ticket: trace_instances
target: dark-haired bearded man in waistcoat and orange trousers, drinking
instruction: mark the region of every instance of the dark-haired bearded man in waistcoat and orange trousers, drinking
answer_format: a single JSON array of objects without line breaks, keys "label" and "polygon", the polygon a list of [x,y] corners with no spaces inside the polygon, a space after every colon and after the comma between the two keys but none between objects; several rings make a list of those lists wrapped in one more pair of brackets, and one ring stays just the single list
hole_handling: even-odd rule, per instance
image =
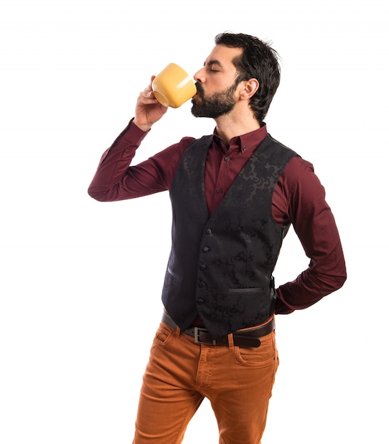
[{"label": "dark-haired bearded man in waistcoat and orange trousers, drinking", "polygon": [[[181,443],[204,396],[220,443],[261,443],[278,367],[274,315],[305,309],[346,280],[312,165],[267,133],[277,53],[245,34],[217,35],[215,43],[195,74],[192,99],[194,116],[214,118],[214,134],[182,138],[128,167],[167,111],[149,84],[89,187],[99,201],[165,190],[172,201],[165,310],[143,378],[135,444]],[[276,289],[272,272],[290,224],[310,263]]]}]

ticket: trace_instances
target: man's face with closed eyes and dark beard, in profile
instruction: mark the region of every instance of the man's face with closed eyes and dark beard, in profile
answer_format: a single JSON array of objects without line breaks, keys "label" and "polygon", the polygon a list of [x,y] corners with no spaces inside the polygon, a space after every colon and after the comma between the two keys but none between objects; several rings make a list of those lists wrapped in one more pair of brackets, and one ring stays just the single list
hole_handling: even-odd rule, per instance
[{"label": "man's face with closed eyes and dark beard, in profile", "polygon": [[197,94],[192,99],[192,114],[217,118],[234,109],[236,104],[236,67],[232,60],[241,48],[216,45],[204,67],[195,74]]}]

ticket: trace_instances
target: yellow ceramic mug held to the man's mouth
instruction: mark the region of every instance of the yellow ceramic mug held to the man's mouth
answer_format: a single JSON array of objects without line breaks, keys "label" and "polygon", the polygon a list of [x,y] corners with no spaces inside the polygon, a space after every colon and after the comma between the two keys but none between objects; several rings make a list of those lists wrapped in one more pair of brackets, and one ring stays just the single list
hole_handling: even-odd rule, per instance
[{"label": "yellow ceramic mug held to the man's mouth", "polygon": [[196,94],[192,77],[175,63],[170,63],[153,80],[153,92],[163,106],[178,108]]}]

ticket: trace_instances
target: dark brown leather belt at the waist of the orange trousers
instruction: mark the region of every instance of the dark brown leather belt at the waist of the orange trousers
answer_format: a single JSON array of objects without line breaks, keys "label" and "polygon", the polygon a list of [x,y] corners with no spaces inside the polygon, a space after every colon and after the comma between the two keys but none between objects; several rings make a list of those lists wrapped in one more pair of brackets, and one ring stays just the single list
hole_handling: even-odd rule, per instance
[{"label": "dark brown leather belt at the waist of the orange trousers", "polygon": [[[170,318],[168,313],[163,312],[162,321],[172,328],[177,328],[177,324],[175,321]],[[265,323],[263,326],[253,327],[249,330],[237,331],[236,333],[232,333],[232,337],[234,338],[234,345],[243,348],[258,348],[261,345],[261,340],[263,336],[266,336],[275,328],[274,318]],[[190,327],[185,331],[182,331],[185,335],[192,336],[195,338],[195,343],[197,344],[205,344],[205,345],[229,345],[229,337],[222,336],[221,338],[213,339],[209,334],[206,328],[200,327]]]}]

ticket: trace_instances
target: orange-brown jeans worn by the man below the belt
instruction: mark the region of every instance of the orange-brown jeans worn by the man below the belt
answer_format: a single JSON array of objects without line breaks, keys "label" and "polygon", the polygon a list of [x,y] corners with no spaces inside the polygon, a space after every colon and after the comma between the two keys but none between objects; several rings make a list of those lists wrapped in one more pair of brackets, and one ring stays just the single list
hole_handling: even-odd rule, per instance
[{"label": "orange-brown jeans worn by the man below the belt", "polygon": [[[278,353],[275,332],[259,348],[203,345],[161,322],[136,418],[133,444],[179,444],[204,397],[219,426],[219,444],[260,444]],[[207,443],[211,444],[211,443]]]}]

